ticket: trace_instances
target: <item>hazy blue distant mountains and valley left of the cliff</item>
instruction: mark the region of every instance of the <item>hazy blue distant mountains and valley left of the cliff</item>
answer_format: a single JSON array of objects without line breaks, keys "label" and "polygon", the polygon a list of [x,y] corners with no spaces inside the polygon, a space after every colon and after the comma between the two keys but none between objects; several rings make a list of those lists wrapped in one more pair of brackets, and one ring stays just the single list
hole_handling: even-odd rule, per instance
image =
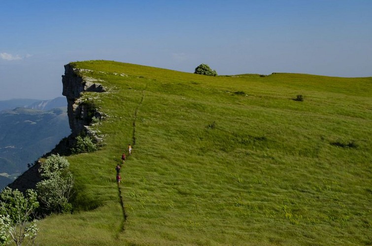
[{"label": "hazy blue distant mountains and valley left of the cliff", "polygon": [[0,101],[0,189],[69,135],[67,100]]}]

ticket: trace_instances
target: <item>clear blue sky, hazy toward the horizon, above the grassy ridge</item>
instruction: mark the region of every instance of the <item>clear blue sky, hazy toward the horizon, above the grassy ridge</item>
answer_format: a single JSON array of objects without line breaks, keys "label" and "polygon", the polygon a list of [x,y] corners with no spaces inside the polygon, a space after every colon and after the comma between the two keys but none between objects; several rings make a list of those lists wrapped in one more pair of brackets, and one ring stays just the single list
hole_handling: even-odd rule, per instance
[{"label": "clear blue sky, hazy toward the horizon, above the grassy ridge", "polygon": [[372,76],[372,0],[0,0],[0,100],[62,96],[64,64]]}]

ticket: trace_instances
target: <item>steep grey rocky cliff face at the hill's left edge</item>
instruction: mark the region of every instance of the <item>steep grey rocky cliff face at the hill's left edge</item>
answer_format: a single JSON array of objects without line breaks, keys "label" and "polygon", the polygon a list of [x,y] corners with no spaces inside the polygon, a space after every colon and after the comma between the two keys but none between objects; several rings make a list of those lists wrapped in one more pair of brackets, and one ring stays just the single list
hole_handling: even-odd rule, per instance
[{"label": "steep grey rocky cliff face at the hill's left edge", "polygon": [[83,71],[89,70],[77,69],[70,64],[65,65],[65,75],[62,75],[62,94],[67,98],[68,121],[72,136],[84,132],[98,139],[97,134],[92,132],[88,125],[93,117],[101,120],[104,115],[94,107],[93,101],[82,100],[80,97],[82,92],[105,92],[105,89],[97,83],[98,80],[79,75]]}]

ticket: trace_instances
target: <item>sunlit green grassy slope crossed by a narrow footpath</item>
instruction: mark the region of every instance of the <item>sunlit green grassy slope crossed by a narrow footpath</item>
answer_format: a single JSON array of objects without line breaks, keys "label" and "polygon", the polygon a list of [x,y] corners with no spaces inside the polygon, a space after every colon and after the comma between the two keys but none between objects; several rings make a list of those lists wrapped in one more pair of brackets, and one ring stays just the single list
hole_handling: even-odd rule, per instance
[{"label": "sunlit green grassy slope crossed by a narrow footpath", "polygon": [[372,243],[372,78],[75,66],[107,72],[84,73],[110,88],[84,95],[110,116],[105,145],[68,157],[79,211],[40,221],[41,245]]}]

